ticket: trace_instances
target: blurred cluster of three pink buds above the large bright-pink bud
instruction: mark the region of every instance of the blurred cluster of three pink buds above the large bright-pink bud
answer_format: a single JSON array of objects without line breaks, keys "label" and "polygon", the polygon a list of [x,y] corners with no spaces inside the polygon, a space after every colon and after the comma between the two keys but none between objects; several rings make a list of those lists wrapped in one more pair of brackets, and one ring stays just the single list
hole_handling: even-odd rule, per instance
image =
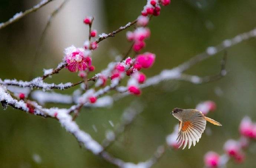
[{"label": "blurred cluster of three pink buds above the large bright-pink bud", "polygon": [[144,40],[150,37],[150,30],[146,27],[138,27],[134,32],[127,31],[126,37],[128,41],[134,41],[132,48],[138,52],[146,46]]}]

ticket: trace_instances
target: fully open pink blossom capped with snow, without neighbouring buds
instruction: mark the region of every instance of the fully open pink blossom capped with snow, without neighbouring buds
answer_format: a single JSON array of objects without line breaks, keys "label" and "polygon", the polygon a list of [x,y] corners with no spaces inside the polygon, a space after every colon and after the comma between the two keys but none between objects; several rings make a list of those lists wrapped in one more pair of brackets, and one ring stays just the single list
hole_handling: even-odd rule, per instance
[{"label": "fully open pink blossom capped with snow, without neighbouring buds", "polygon": [[69,71],[84,71],[88,66],[85,61],[83,52],[83,48],[75,48],[74,46],[65,49],[65,61],[68,64],[66,65],[66,68],[68,68]]}]

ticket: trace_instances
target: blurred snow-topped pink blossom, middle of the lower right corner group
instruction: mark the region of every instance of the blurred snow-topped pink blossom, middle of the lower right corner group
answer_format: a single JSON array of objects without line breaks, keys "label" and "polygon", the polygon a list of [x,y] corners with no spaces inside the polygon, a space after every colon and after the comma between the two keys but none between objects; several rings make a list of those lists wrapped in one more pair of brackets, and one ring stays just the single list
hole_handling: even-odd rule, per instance
[{"label": "blurred snow-topped pink blossom, middle of the lower right corner group", "polygon": [[227,140],[224,144],[224,151],[230,156],[234,157],[240,152],[240,145],[235,140]]}]

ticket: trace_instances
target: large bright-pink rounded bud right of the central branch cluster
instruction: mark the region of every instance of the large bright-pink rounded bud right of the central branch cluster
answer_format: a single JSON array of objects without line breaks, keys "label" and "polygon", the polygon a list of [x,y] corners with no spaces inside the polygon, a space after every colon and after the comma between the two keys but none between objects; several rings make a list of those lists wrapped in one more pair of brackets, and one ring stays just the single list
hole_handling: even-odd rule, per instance
[{"label": "large bright-pink rounded bud right of the central branch cluster", "polygon": [[155,62],[155,54],[144,53],[140,54],[136,58],[136,62],[142,66],[142,68],[150,68]]}]

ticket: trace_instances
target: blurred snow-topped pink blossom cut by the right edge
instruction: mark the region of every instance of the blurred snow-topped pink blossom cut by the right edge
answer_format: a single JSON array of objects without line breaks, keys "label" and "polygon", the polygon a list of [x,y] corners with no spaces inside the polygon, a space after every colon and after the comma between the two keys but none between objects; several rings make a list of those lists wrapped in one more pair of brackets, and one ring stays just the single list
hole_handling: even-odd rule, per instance
[{"label": "blurred snow-topped pink blossom cut by the right edge", "polygon": [[241,135],[249,138],[256,138],[256,125],[252,123],[249,117],[244,117],[240,123],[239,131]]}]

